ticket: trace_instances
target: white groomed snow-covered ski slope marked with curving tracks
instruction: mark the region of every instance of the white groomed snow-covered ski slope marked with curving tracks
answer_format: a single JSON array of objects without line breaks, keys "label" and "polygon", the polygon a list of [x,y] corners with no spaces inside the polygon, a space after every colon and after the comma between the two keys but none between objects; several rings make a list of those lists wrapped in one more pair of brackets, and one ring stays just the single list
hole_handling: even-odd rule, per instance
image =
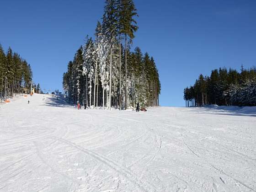
[{"label": "white groomed snow-covered ski slope marked with curving tracks", "polygon": [[255,192],[256,116],[21,97],[0,109],[0,191]]}]

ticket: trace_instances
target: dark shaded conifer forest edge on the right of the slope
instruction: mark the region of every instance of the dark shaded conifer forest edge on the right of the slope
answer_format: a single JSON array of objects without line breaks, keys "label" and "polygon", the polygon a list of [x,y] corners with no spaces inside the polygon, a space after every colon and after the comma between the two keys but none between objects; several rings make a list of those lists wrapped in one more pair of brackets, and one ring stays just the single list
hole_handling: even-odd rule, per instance
[{"label": "dark shaded conifer forest edge on the right of the slope", "polygon": [[256,67],[219,68],[210,77],[199,75],[193,86],[184,89],[186,106],[256,106]]}]

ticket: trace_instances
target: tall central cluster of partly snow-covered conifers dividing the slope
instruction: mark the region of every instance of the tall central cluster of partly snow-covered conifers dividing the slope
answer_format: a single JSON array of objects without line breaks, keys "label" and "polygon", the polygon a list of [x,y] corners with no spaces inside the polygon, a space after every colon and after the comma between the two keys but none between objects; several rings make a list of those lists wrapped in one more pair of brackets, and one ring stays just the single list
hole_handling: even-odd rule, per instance
[{"label": "tall central cluster of partly snow-covered conifers dividing the slope", "polygon": [[153,57],[130,45],[138,26],[133,0],[106,0],[95,39],[87,37],[63,75],[69,102],[127,109],[158,106],[160,80]]}]

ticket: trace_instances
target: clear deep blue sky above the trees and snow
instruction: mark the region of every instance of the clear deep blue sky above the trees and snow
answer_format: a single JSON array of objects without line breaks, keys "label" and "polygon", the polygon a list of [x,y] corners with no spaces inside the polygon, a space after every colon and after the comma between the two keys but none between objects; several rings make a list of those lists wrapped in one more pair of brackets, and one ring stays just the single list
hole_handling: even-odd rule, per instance
[{"label": "clear deep blue sky above the trees and snow", "polygon": [[[134,0],[139,46],[155,58],[160,105],[184,106],[183,89],[212,69],[256,65],[255,0]],[[85,36],[92,36],[104,0],[4,0],[0,43],[27,59],[42,88],[62,90],[62,75]]]}]

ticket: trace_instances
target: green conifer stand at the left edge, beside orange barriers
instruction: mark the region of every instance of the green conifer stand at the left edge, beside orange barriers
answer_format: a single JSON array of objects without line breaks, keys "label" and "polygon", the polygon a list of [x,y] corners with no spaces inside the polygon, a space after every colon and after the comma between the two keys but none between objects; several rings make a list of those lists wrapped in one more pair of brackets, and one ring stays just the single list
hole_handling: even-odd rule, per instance
[{"label": "green conifer stand at the left edge, beside orange barriers", "polygon": [[17,93],[30,93],[32,69],[26,59],[8,48],[4,52],[0,44],[0,100],[12,98]]}]

